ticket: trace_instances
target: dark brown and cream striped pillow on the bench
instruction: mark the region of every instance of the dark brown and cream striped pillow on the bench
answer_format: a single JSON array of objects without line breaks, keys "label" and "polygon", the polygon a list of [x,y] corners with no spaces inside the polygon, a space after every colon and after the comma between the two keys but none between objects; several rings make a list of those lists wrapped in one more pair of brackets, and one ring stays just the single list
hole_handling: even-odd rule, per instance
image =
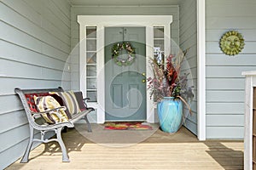
[{"label": "dark brown and cream striped pillow on the bench", "polygon": [[64,105],[71,115],[81,112],[79,109],[79,104],[73,91],[67,92],[49,92],[49,94],[57,94],[64,101]]}]

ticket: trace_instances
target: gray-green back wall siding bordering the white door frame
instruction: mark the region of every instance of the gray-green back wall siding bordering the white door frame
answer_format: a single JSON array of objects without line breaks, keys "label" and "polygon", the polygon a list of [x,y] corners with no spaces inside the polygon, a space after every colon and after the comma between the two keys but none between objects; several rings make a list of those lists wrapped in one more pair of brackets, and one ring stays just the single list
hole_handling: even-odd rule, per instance
[{"label": "gray-green back wall siding bordering the white door frame", "polygon": [[[78,15],[167,15],[173,16],[172,22],[172,39],[179,42],[178,37],[178,6],[165,5],[165,6],[73,6],[71,18],[72,30],[72,88],[79,90],[79,24],[77,22]],[[103,56],[102,56],[103,57]],[[103,59],[103,58],[102,58]],[[90,114],[96,117],[96,112]],[[90,122],[96,122],[96,119],[90,119]]]}]

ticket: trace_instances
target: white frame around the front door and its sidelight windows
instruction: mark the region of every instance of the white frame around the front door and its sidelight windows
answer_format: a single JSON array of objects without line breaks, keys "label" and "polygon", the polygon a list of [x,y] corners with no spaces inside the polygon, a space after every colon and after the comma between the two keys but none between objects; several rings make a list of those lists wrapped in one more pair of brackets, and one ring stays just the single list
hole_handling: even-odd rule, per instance
[{"label": "white frame around the front door and its sidelight windows", "polygon": [[[96,26],[96,72],[97,72],[97,103],[90,104],[96,108],[97,123],[105,122],[105,71],[104,71],[104,28],[107,26],[145,26],[146,28],[146,58],[152,58],[154,54],[153,27],[164,26],[165,35],[171,36],[172,15],[79,15],[78,22],[80,25],[79,40],[79,78],[80,90],[86,94],[86,26]],[[171,41],[165,39],[165,54],[169,54]],[[146,67],[147,77],[150,77],[150,70]],[[150,99],[147,90],[147,122],[154,122],[154,102]]]}]

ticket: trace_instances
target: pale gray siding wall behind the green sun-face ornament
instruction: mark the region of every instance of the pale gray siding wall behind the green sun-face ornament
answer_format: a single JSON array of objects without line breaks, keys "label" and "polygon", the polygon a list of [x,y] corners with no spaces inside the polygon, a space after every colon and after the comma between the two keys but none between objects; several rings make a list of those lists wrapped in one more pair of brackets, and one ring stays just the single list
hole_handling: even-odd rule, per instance
[{"label": "pale gray siding wall behind the green sun-face ornament", "polygon": [[[207,0],[207,139],[242,139],[244,77],[256,70],[256,2]],[[222,53],[218,41],[226,31],[241,32],[241,54]]]}]

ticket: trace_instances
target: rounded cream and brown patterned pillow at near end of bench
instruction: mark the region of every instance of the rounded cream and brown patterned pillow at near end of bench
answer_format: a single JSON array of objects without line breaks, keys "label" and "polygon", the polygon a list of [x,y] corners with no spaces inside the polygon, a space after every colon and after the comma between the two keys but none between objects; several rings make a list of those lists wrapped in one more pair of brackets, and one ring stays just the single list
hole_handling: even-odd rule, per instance
[{"label": "rounded cream and brown patterned pillow at near end of bench", "polygon": [[[35,104],[38,107],[38,111],[49,111],[55,108],[61,107],[61,105],[52,97],[52,96],[42,96],[37,97],[34,96]],[[68,118],[66,112],[63,110],[53,111],[55,114],[44,113],[42,116],[44,120],[49,123],[56,123],[56,122],[67,122]],[[56,114],[60,114],[61,119]]]}]

